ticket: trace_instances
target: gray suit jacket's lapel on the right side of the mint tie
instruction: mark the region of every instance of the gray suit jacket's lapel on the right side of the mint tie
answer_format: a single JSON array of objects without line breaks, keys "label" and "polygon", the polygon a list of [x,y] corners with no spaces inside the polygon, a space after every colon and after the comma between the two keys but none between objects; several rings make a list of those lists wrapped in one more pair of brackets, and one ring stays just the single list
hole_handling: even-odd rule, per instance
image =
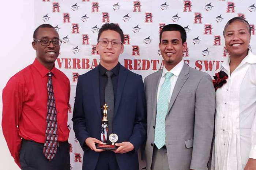
[{"label": "gray suit jacket's lapel on the right side of the mint tie", "polygon": [[169,113],[170,109],[172,108],[173,103],[174,103],[177,95],[179,94],[182,86],[187,81],[187,79],[189,77],[188,73],[189,73],[189,66],[187,64],[184,64],[184,66],[182,67],[182,70],[180,72],[180,75],[178,76],[175,87],[173,89],[173,93],[172,93],[172,97],[171,97],[171,100],[170,100],[170,103],[168,106],[167,114]]}]

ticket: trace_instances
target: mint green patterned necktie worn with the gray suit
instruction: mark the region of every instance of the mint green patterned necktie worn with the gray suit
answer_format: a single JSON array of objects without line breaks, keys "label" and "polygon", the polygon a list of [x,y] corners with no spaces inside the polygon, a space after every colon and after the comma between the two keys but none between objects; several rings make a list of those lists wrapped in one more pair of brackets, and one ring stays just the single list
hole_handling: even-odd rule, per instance
[{"label": "mint green patterned necktie worn with the gray suit", "polygon": [[155,122],[155,145],[161,149],[165,145],[165,116],[169,105],[169,96],[171,89],[170,78],[173,76],[171,72],[165,74],[165,82],[163,83],[157,102],[157,118]]}]

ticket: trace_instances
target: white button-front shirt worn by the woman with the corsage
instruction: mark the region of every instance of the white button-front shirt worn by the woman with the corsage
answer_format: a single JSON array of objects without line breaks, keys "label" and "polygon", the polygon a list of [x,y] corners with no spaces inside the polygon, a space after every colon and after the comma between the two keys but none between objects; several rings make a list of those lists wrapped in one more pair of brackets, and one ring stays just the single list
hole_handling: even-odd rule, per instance
[{"label": "white button-front shirt worn by the woman with the corsage", "polygon": [[229,77],[216,91],[212,170],[243,170],[256,159],[256,55],[249,51],[231,76],[229,62],[218,70]]}]

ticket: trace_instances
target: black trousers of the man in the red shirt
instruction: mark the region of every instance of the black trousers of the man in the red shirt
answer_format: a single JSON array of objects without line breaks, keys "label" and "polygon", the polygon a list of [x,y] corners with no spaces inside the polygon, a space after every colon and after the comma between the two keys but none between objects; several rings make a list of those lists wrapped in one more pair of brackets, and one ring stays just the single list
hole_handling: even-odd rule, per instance
[{"label": "black trousers of the man in the red shirt", "polygon": [[69,143],[61,142],[57,154],[48,161],[44,153],[44,143],[22,140],[19,161],[22,170],[70,170]]}]

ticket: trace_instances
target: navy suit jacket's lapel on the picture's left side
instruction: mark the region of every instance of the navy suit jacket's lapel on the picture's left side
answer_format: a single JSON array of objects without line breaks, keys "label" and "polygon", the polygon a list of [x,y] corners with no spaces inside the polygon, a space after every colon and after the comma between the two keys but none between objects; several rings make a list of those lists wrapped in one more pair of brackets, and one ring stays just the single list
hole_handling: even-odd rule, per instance
[{"label": "navy suit jacket's lapel on the picture's left side", "polygon": [[99,99],[99,67],[95,67],[91,74],[91,86],[93,87],[94,102],[101,118],[101,104]]}]

